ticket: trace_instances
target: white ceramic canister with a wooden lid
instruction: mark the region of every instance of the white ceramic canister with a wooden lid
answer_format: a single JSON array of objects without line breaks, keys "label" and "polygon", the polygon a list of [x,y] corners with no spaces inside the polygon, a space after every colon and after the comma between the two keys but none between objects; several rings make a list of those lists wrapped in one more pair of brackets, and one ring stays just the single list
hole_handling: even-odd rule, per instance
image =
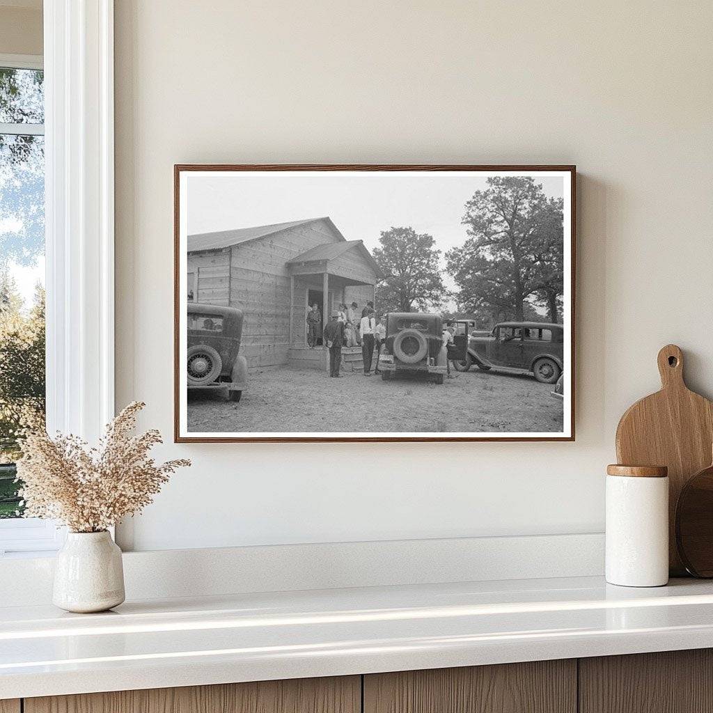
[{"label": "white ceramic canister with a wooden lid", "polygon": [[665,466],[607,466],[606,579],[660,587],[669,573],[669,480]]}]

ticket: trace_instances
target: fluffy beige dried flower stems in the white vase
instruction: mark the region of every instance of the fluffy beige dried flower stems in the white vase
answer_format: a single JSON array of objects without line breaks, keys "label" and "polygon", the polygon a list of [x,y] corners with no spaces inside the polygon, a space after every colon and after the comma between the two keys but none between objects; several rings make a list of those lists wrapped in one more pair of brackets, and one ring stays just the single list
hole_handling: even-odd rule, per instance
[{"label": "fluffy beige dried flower stems in the white vase", "polygon": [[106,427],[97,448],[76,436],[45,431],[24,436],[17,478],[25,517],[61,520],[72,532],[96,533],[153,502],[168,476],[190,461],[156,465],[148,452],[161,443],[152,429],[132,436],[145,404],[134,401]]}]

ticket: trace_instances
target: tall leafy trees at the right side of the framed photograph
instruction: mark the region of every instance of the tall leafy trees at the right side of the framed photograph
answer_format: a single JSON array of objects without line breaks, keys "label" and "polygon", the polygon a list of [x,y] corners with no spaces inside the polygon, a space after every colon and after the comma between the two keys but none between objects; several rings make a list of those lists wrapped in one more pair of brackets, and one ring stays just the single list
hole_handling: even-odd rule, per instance
[{"label": "tall leafy trees at the right side of the framed photograph", "polygon": [[[468,239],[446,253],[463,311],[525,319],[528,299],[558,321],[563,293],[563,202],[548,199],[530,177],[488,178],[466,202]],[[530,307],[530,310],[528,310]]]}]

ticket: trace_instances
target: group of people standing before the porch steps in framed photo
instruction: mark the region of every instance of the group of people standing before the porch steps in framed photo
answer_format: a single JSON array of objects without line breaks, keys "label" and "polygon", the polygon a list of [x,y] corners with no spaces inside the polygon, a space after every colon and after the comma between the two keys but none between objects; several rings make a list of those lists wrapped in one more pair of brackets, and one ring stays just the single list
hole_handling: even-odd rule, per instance
[{"label": "group of people standing before the porch steps in framed photo", "polygon": [[361,310],[361,319],[356,323],[356,302],[347,307],[339,304],[334,309],[332,318],[324,327],[324,344],[329,349],[329,376],[339,377],[342,366],[342,347],[356,347],[361,344],[361,358],[364,361],[364,375],[371,376],[371,363],[376,350],[376,369],[379,374],[379,354],[381,345],[386,339],[386,324],[384,317],[376,319],[374,302],[366,302]]}]

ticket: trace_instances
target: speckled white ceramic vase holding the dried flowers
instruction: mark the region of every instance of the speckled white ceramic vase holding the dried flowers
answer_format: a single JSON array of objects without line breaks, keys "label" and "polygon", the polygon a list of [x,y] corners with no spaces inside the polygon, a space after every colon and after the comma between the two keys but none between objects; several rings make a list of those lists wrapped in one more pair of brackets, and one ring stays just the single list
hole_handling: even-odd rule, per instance
[{"label": "speckled white ceramic vase holding the dried flowers", "polygon": [[68,612],[103,612],[124,598],[121,550],[111,535],[67,533],[56,558],[54,605]]}]

